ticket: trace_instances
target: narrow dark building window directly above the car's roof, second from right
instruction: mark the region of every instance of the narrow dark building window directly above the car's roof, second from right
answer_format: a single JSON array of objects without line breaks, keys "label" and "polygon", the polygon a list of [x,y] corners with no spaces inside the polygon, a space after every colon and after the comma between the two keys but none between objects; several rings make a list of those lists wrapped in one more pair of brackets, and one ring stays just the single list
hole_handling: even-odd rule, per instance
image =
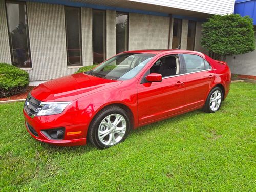
[{"label": "narrow dark building window directly above the car's roof, second from right", "polygon": [[182,19],[174,19],[172,48],[177,49],[181,43]]}]

